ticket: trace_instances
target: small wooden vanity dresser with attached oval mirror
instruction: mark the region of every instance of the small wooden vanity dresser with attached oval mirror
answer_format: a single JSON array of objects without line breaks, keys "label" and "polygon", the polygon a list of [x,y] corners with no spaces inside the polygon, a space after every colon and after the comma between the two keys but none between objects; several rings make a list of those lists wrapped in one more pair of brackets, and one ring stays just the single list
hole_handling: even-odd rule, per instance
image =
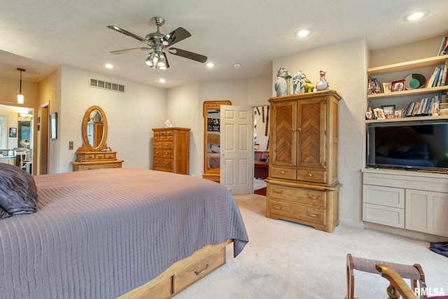
[{"label": "small wooden vanity dresser with attached oval mirror", "polygon": [[117,152],[106,144],[107,118],[99,106],[85,111],[82,125],[83,146],[76,151],[76,160],[71,162],[73,172],[101,168],[121,168],[123,160],[117,160]]}]

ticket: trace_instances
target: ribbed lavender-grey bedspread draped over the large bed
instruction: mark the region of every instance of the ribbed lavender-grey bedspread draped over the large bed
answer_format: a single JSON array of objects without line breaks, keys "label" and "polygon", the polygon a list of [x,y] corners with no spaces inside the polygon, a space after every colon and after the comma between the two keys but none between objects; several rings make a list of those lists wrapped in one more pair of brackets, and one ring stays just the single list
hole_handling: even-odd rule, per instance
[{"label": "ribbed lavender-grey bedspread draped over the large bed", "polygon": [[232,194],[146,169],[35,176],[38,211],[0,221],[0,298],[116,298],[207,244],[248,241]]}]

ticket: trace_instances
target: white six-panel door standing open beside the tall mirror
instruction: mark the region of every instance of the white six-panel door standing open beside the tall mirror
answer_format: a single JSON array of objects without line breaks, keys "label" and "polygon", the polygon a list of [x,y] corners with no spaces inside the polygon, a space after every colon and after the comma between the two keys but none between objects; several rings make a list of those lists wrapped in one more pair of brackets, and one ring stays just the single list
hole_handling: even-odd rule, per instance
[{"label": "white six-panel door standing open beside the tall mirror", "polygon": [[252,193],[252,109],[221,106],[221,184],[232,194]]}]

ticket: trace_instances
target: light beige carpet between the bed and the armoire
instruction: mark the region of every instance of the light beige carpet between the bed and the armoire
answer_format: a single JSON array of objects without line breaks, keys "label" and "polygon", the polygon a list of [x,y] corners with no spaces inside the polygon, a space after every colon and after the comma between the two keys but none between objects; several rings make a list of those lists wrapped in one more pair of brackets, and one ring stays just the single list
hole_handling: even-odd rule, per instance
[{"label": "light beige carpet between the bed and the armoire", "polygon": [[[412,265],[420,263],[431,288],[448,295],[448,258],[429,243],[375,230],[339,225],[332,233],[265,217],[265,196],[236,195],[249,242],[227,263],[176,299],[344,298],[346,253]],[[355,272],[355,295],[387,298],[388,282],[379,274]]]}]

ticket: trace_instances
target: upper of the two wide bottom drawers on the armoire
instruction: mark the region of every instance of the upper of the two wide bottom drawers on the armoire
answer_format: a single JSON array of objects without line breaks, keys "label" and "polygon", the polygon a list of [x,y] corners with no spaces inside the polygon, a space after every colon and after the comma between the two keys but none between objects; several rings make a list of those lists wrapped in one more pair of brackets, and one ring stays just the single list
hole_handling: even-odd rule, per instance
[{"label": "upper of the two wide bottom drawers on the armoire", "polygon": [[325,207],[326,193],[318,190],[292,188],[281,185],[267,184],[267,197],[286,202],[300,204],[312,204],[317,207]]}]

